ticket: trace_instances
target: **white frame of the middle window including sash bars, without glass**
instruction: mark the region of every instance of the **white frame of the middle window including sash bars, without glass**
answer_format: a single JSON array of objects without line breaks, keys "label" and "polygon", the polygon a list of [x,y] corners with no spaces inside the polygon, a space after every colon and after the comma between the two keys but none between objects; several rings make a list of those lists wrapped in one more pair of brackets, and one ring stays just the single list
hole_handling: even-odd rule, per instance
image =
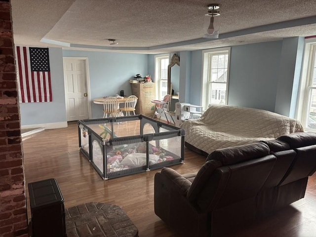
[{"label": "white frame of the middle window including sash bars, without glass", "polygon": [[[212,55],[222,55],[222,54],[228,54],[228,63],[227,63],[227,80],[226,82],[211,82],[210,81],[210,74],[211,74],[211,56]],[[202,80],[201,80],[201,104],[203,106],[203,110],[206,110],[208,108],[208,101],[209,96],[212,96],[212,91],[210,90],[209,84],[211,83],[226,83],[226,92],[224,93],[226,95],[225,98],[225,105],[228,103],[228,88],[229,88],[229,71],[230,71],[230,60],[231,60],[231,47],[224,47],[224,48],[215,48],[215,49],[207,49],[202,50]],[[218,92],[217,92],[218,93]],[[222,97],[222,91],[220,97]],[[214,94],[216,97],[216,94]]]}]

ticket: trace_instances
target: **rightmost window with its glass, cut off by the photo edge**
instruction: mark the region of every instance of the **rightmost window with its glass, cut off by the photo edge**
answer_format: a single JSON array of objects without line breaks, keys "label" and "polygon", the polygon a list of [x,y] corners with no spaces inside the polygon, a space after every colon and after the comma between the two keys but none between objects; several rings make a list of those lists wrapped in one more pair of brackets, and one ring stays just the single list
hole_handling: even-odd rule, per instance
[{"label": "rightmost window with its glass, cut off by the photo edge", "polygon": [[305,40],[297,115],[307,130],[316,130],[316,38]]}]

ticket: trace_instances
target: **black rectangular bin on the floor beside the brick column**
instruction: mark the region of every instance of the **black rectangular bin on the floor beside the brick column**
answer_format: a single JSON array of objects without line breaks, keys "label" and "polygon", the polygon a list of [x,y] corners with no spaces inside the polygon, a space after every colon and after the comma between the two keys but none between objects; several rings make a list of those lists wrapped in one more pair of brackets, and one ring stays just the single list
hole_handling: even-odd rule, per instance
[{"label": "black rectangular bin on the floor beside the brick column", "polygon": [[64,198],[56,179],[29,183],[32,237],[66,237]]}]

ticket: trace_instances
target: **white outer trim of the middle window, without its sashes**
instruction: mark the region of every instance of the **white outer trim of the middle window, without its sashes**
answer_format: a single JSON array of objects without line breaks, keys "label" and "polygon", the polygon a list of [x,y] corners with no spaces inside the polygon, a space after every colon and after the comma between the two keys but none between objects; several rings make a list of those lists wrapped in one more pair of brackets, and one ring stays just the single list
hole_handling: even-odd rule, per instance
[{"label": "white outer trim of the middle window, without its sashes", "polygon": [[229,85],[229,71],[230,71],[230,61],[231,61],[231,47],[224,47],[224,48],[213,48],[213,49],[206,49],[202,50],[202,79],[201,79],[201,104],[203,106],[203,110],[208,108],[208,104],[206,103],[206,97],[208,95],[208,60],[209,60],[209,53],[221,53],[228,51],[228,69],[227,69],[227,81],[226,81],[226,100],[225,104],[228,103],[228,85]]}]

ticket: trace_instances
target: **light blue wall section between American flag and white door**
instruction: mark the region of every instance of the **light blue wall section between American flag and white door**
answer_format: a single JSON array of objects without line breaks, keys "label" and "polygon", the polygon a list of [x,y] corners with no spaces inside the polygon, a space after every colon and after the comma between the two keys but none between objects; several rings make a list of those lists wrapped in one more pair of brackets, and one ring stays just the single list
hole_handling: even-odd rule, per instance
[{"label": "light blue wall section between American flag and white door", "polygon": [[66,121],[63,54],[49,48],[52,102],[20,103],[21,126]]}]

